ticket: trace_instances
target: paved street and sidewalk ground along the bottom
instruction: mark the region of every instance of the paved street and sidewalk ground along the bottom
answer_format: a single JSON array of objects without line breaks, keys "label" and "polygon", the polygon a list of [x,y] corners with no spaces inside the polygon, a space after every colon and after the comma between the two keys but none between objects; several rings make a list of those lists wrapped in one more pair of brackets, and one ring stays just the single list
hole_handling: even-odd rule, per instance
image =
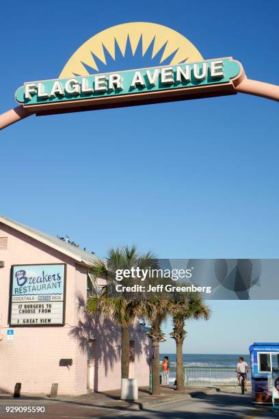
[{"label": "paved street and sidewalk ground along the bottom", "polygon": [[[6,413],[6,407],[10,412]],[[14,411],[11,411],[11,407]],[[18,407],[40,407],[40,411],[23,413]],[[44,412],[42,412],[44,409]],[[279,418],[270,407],[251,404],[251,393],[240,394],[239,388],[187,388],[177,392],[174,387],[161,387],[159,396],[151,396],[148,388],[139,389],[137,402],[120,401],[120,391],[88,393],[83,396],[49,398],[43,394],[22,394],[21,398],[0,394],[0,418]]]}]

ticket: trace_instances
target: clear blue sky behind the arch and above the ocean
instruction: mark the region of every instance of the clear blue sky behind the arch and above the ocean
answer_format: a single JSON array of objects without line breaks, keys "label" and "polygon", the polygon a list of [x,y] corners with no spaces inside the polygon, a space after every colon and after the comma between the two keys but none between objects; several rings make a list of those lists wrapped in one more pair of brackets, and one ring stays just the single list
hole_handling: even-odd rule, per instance
[{"label": "clear blue sky behind the arch and above the ocean", "polygon": [[[277,0],[14,1],[1,12],[0,112],[24,81],[58,77],[85,40],[131,21],[172,27],[204,58],[233,56],[251,79],[279,84]],[[167,258],[279,256],[276,102],[238,94],[30,117],[0,141],[0,213],[97,255],[134,243]],[[209,322],[187,325],[188,353],[278,341],[277,301],[210,304]]]}]

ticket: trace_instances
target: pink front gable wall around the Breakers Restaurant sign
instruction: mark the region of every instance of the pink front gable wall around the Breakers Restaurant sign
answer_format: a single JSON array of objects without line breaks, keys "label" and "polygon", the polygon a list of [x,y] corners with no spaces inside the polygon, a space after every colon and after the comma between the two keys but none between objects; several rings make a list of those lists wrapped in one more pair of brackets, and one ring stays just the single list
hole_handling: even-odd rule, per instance
[{"label": "pink front gable wall around the Breakers Restaurant sign", "polygon": [[[69,335],[77,323],[77,292],[86,292],[86,273],[76,270],[70,257],[0,223],[0,237],[8,237],[8,250],[0,250],[0,392],[13,392],[16,382],[22,392],[46,393],[58,383],[59,394],[86,392],[87,354]],[[13,264],[66,263],[66,313],[64,327],[12,327],[8,341],[10,268]],[[59,359],[72,358],[72,366],[59,366]],[[82,379],[84,374],[84,379]]]}]

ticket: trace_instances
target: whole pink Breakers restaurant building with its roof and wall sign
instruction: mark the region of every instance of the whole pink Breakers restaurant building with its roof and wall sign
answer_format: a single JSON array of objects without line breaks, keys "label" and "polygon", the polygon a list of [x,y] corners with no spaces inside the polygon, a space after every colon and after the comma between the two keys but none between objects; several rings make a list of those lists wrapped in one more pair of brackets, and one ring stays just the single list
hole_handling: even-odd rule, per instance
[{"label": "whole pink Breakers restaurant building with its roof and wall sign", "polygon": [[[120,329],[83,305],[95,256],[0,216],[0,393],[84,394],[120,388]],[[130,378],[148,385],[150,343],[131,329]]]}]

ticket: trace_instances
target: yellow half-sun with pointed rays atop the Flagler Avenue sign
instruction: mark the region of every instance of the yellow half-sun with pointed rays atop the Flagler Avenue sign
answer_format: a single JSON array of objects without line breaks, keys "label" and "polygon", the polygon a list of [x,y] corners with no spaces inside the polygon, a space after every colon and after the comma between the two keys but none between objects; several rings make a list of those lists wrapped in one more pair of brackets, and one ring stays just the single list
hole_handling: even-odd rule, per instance
[{"label": "yellow half-sun with pointed rays atop the Flagler Avenue sign", "polygon": [[123,23],[84,42],[59,78],[202,60],[198,49],[170,27],[148,22]]}]

